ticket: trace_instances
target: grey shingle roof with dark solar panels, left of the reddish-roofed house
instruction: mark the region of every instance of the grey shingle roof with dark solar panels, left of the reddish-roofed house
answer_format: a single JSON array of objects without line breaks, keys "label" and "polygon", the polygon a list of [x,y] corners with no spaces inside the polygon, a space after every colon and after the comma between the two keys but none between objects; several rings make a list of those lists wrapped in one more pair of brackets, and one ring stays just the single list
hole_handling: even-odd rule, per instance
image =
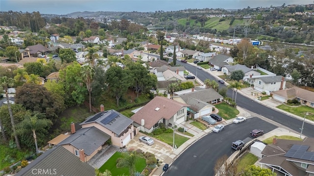
[{"label": "grey shingle roof with dark solar panels, left of the reddish-roofed house", "polygon": [[[108,123],[104,123],[103,120],[110,119],[111,116],[115,116],[112,120]],[[106,120],[105,120],[106,121]],[[109,129],[110,131],[114,132],[115,134],[120,135],[125,129],[127,129],[133,121],[130,118],[127,118],[123,114],[115,110],[108,110],[105,112],[99,112],[91,117],[89,117],[86,121],[82,122],[80,125],[89,124],[89,123],[98,123],[101,126]]]}]

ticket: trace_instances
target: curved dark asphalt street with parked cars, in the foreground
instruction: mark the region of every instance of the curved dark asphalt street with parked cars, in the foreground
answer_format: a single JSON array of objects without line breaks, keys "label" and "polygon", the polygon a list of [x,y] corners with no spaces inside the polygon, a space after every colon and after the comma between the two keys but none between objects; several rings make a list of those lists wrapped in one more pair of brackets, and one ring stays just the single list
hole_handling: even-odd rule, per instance
[{"label": "curved dark asphalt street with parked cars, in the foreground", "polygon": [[250,132],[256,128],[267,133],[277,126],[257,117],[247,119],[240,124],[227,125],[221,132],[209,133],[187,148],[163,176],[214,176],[213,168],[217,159],[225,154],[229,157],[235,152],[231,148],[232,142],[252,140]]}]

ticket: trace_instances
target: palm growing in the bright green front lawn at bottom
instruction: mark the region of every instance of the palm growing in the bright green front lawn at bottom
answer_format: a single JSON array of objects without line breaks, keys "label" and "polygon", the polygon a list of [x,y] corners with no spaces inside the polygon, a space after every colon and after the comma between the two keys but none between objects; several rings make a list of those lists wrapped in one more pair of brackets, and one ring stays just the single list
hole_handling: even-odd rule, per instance
[{"label": "palm growing in the bright green front lawn at bottom", "polygon": [[133,176],[135,173],[135,162],[138,160],[139,155],[136,151],[123,152],[122,158],[118,161],[117,167],[127,167],[130,171],[130,176]]}]

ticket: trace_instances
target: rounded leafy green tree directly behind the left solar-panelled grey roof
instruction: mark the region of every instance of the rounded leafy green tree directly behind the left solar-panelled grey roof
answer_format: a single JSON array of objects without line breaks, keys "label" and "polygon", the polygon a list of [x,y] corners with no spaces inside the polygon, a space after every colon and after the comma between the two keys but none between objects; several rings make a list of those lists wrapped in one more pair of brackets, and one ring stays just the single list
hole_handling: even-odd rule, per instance
[{"label": "rounded leafy green tree directly behind the left solar-panelled grey roof", "polygon": [[107,70],[106,82],[108,84],[109,93],[116,98],[117,106],[119,106],[121,96],[127,93],[131,85],[130,80],[131,78],[127,70],[122,70],[119,66],[112,66]]}]

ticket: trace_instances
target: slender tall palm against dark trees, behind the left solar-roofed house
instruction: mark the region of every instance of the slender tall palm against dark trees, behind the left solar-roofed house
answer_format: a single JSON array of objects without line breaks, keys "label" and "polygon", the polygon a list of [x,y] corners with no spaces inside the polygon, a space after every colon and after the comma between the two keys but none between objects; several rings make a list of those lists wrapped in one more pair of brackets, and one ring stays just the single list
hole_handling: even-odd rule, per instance
[{"label": "slender tall palm against dark trees, behind the left solar-roofed house", "polygon": [[86,84],[87,91],[89,93],[89,112],[92,113],[92,102],[91,102],[91,92],[92,92],[92,82],[95,75],[95,70],[91,66],[81,67],[81,74],[83,80]]}]

